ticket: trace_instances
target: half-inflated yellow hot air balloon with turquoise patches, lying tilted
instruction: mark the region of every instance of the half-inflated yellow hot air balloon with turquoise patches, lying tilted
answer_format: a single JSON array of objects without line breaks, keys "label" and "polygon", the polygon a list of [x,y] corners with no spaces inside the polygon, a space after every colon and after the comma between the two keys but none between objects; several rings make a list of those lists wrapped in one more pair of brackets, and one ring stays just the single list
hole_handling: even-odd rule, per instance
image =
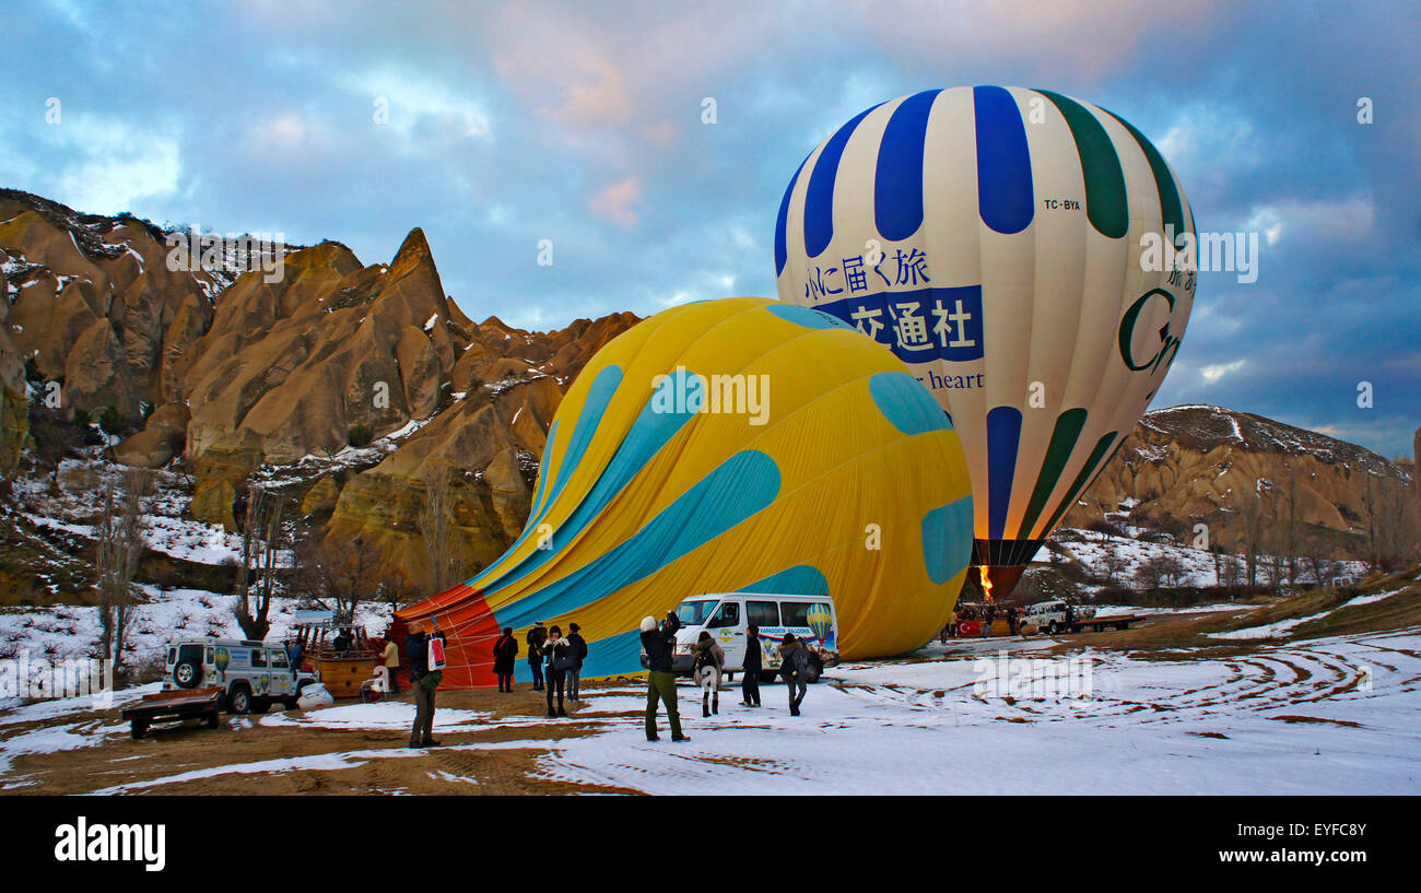
[{"label": "half-inflated yellow hot air balloon with turquoise patches, lying tilted", "polygon": [[585,677],[639,673],[641,619],[718,592],[828,594],[841,656],[899,654],[952,610],[971,520],[956,434],[898,360],[804,307],[692,303],[588,361],[523,533],[396,620],[446,633],[452,687],[493,685],[500,629],[537,620],[581,626]]}]

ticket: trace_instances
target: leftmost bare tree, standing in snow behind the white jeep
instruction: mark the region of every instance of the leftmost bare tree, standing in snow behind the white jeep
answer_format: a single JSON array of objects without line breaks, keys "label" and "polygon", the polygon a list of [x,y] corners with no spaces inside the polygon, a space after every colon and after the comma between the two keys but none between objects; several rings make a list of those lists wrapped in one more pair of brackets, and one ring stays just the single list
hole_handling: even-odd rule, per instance
[{"label": "leftmost bare tree, standing in snow behind the white jeep", "polygon": [[124,660],[124,640],[136,610],[134,573],[144,553],[142,498],[149,472],[128,468],[122,472],[124,492],[114,493],[114,479],[105,475],[104,512],[98,525],[95,570],[98,572],[99,657],[115,665]]}]

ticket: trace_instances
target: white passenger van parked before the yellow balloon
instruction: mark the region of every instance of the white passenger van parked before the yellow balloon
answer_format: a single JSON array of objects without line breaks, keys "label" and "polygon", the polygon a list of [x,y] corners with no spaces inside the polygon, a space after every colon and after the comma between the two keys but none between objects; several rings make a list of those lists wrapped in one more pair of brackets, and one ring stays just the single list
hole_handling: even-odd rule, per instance
[{"label": "white passenger van parked before the yellow balloon", "polygon": [[[725,648],[725,673],[742,673],[746,647],[760,648],[760,678],[773,681],[780,667],[780,643],[786,633],[804,643],[810,651],[809,681],[818,681],[824,667],[838,663],[838,614],[828,596],[780,596],[770,593],[716,593],[692,596],[676,609],[681,630],[676,633],[674,667],[691,675],[692,646],[705,630]],[[760,629],[759,640],[749,641],[746,629]],[[641,656],[647,665],[647,654]]]}]

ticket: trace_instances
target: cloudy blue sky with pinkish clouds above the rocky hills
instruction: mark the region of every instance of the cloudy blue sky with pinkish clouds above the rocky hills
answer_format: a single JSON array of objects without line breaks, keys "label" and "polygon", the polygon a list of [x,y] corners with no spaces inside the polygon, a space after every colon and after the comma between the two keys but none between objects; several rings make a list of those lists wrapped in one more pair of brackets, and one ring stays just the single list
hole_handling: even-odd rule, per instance
[{"label": "cloudy blue sky with pinkish clouds above the rocky hills", "polygon": [[0,185],[365,263],[419,226],[469,317],[537,330],[774,296],[780,196],[840,124],[1056,90],[1147,134],[1201,230],[1258,233],[1256,282],[1201,274],[1152,405],[1387,456],[1421,424],[1415,3],[7,7]]}]

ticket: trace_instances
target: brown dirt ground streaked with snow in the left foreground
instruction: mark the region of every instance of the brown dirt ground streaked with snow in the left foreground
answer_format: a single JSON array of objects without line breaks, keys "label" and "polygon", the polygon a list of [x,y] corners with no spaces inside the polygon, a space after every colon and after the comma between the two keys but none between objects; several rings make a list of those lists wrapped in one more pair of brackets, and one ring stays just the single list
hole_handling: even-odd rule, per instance
[{"label": "brown dirt ground streaked with snow in the left foreground", "polygon": [[[621,685],[625,685],[622,683]],[[584,691],[595,690],[584,684]],[[412,704],[406,691],[396,698]],[[347,701],[341,701],[347,704]],[[557,739],[590,734],[590,727],[577,721],[574,704],[568,704],[570,718],[546,720],[541,694],[523,691],[500,695],[497,691],[441,691],[441,710],[490,711],[495,720],[526,718],[543,725],[522,724],[513,728],[469,725],[468,731],[438,731],[443,747],[404,759],[367,759],[361,765],[340,769],[301,768],[286,772],[225,772],[190,781],[173,781],[151,788],[128,788],[132,793],[183,795],[240,795],[240,793],[637,793],[614,788],[568,785],[537,778],[534,759],[547,748],[459,749],[458,745],[487,744],[520,738]],[[273,711],[276,712],[276,711]],[[297,715],[297,714],[293,714]],[[631,715],[631,714],[628,714]],[[101,718],[104,725],[122,722],[121,710],[84,714],[85,721]],[[223,715],[216,729],[196,721],[182,725],[158,725],[149,737],[134,741],[125,734],[112,734],[102,747],[85,747],[50,754],[18,755],[6,775],[13,786],[4,793],[92,793],[118,785],[169,778],[210,766],[250,764],[260,761],[344,754],[350,751],[402,749],[409,744],[406,729],[330,729],[293,725],[256,725],[246,720]],[[250,720],[259,720],[252,717]],[[605,721],[607,714],[598,720]],[[45,727],[67,725],[74,717],[58,721],[17,724],[0,732],[24,732]],[[125,725],[126,729],[126,725]],[[82,728],[78,731],[84,731]]]}]

